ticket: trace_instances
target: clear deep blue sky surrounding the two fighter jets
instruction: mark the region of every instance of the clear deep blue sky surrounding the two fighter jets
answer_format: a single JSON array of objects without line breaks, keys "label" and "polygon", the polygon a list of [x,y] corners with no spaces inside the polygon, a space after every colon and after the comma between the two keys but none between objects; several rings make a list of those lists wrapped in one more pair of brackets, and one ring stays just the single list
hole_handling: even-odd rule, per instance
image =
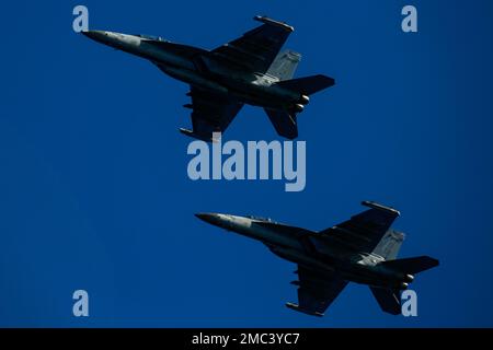
[{"label": "clear deep blue sky surrounding the two fighter jets", "polygon": [[[268,14],[296,27],[297,77],[336,85],[300,115],[307,188],[186,176],[187,86],[72,32],[78,2],[2,4],[1,326],[493,326],[491,1],[83,1],[90,27],[214,48]],[[419,33],[400,31],[404,4]],[[245,107],[230,139],[277,138]],[[321,230],[398,208],[401,256],[431,255],[419,317],[349,284],[324,318],[296,301],[295,266],[198,221],[219,211]],[[90,294],[90,317],[71,293]]]}]

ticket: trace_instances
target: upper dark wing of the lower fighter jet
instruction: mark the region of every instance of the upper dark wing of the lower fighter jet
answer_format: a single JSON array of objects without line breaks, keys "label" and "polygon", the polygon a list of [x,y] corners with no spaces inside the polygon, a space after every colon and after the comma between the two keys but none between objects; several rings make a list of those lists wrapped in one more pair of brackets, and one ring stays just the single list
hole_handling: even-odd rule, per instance
[{"label": "upper dark wing of the lower fighter jet", "polygon": [[362,205],[370,209],[343,223],[321,231],[320,234],[323,240],[344,245],[354,250],[371,253],[400,213],[395,209],[371,201],[364,201]]}]

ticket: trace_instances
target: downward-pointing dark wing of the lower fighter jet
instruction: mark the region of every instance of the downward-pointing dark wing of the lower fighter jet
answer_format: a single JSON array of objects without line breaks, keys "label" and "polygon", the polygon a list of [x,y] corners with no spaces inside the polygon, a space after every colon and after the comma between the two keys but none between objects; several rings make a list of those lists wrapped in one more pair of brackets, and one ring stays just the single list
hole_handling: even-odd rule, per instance
[{"label": "downward-pointing dark wing of the lower fighter jet", "polygon": [[309,315],[323,316],[325,310],[346,287],[347,281],[335,275],[316,272],[298,265],[298,304],[286,306]]}]

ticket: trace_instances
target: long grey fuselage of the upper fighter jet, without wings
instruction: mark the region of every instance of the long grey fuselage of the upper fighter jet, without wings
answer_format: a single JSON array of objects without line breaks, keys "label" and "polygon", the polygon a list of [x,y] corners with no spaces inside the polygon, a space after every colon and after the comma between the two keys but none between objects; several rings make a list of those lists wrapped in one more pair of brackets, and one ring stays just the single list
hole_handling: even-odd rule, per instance
[{"label": "long grey fuselage of the upper fighter jet, without wings", "polygon": [[301,112],[308,96],[277,86],[278,79],[246,72],[217,61],[209,51],[162,39],[147,39],[104,31],[84,32],[88,37],[148,59],[168,75],[196,88],[228,94],[237,100],[265,108]]}]

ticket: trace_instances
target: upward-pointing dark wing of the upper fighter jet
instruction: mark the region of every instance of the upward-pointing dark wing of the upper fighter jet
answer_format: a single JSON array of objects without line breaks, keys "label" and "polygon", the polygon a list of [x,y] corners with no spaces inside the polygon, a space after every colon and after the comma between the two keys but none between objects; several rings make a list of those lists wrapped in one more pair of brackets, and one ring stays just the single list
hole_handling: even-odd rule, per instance
[{"label": "upward-pointing dark wing of the upper fighter jet", "polygon": [[265,73],[294,28],[265,16],[255,16],[254,20],[264,24],[211,52],[216,58],[244,70]]}]

